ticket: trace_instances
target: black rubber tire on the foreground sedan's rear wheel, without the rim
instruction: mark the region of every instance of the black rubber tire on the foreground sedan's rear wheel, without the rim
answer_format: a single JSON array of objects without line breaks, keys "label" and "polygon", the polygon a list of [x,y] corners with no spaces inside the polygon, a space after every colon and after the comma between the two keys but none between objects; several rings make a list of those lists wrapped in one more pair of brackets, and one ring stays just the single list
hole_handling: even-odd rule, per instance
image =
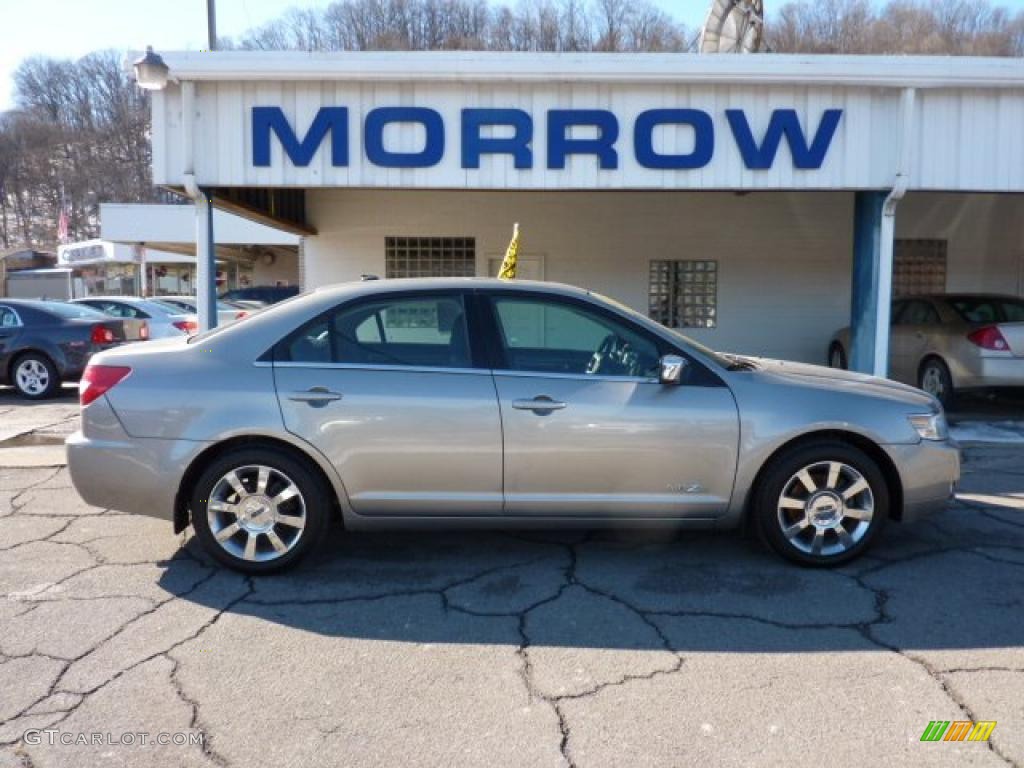
[{"label": "black rubber tire on the foreground sedan's rear wheel, without the rim", "polygon": [[[255,480],[251,477],[251,470],[254,467],[267,467],[272,470],[272,474],[267,481],[265,496],[260,496],[258,497],[259,499],[274,496],[276,489],[284,487],[281,484],[281,478],[284,478],[291,481],[297,487],[299,494],[298,503],[304,505],[305,524],[297,531],[297,539],[294,544],[291,544],[288,538],[292,531],[296,530],[294,524],[284,525],[273,523],[270,525],[270,530],[274,531],[274,536],[278,537],[279,542],[290,543],[290,548],[284,554],[271,555],[268,550],[273,548],[270,547],[272,543],[269,536],[262,532],[255,535],[257,544],[262,545],[257,556],[265,555],[272,559],[251,560],[228,551],[228,548],[238,550],[243,546],[242,541],[248,542],[252,538],[247,529],[240,528],[234,535],[228,537],[225,544],[222,545],[217,541],[214,530],[211,528],[209,509],[211,495],[215,492],[218,494],[222,493],[218,490],[218,486],[226,488],[226,486],[220,485],[220,483],[232,470],[241,470],[237,477],[242,480],[243,486],[247,492],[254,490],[255,486],[253,483]],[[275,482],[278,483],[276,486],[273,485]],[[214,460],[196,483],[190,500],[193,528],[196,530],[196,538],[200,540],[203,548],[217,561],[233,570],[251,574],[285,570],[286,568],[293,567],[312,552],[324,539],[331,520],[333,507],[330,500],[333,498],[333,495],[334,490],[328,486],[317,472],[309,467],[306,461],[301,461],[288,453],[268,447],[240,449]],[[237,496],[230,498],[239,498],[241,501],[241,498]],[[289,512],[294,512],[296,503],[295,498],[292,498],[280,505],[280,508],[284,508],[287,504],[291,507]],[[254,504],[257,507],[260,506],[258,501],[255,501]],[[272,512],[266,512],[265,514],[272,515]],[[289,519],[298,519],[297,515],[289,514],[283,516]],[[218,525],[223,523],[219,528],[221,531],[230,527],[229,522],[232,517],[239,524],[242,522],[242,518],[231,512],[218,513],[214,510],[213,517]],[[261,539],[265,539],[266,541],[261,542]]]}]

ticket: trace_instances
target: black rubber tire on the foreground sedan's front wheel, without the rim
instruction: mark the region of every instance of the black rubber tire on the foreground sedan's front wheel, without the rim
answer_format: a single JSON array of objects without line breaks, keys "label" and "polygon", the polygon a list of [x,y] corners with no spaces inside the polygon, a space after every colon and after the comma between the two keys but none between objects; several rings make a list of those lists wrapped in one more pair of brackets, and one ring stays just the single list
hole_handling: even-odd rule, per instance
[{"label": "black rubber tire on the foreground sedan's front wheel, without the rim", "polygon": [[[828,487],[826,487],[830,480],[830,476],[827,473],[830,463],[839,463],[852,470],[851,473],[847,473],[846,468],[844,468],[843,474],[839,477],[839,482],[836,483],[835,494],[830,494]],[[793,493],[791,490],[794,487],[792,483],[796,481],[797,474],[802,469],[811,467],[812,465],[821,467],[820,470],[815,469],[810,473],[812,481],[819,488],[817,497],[815,494],[811,494],[802,483],[799,486],[800,490],[807,494],[806,501],[809,508],[815,506],[815,498],[818,499],[818,502],[822,502],[825,507],[830,504],[831,497],[842,498],[843,492],[855,484],[855,475],[859,475],[867,483],[869,496],[861,490],[846,502],[851,508],[851,512],[855,511],[853,508],[867,507],[868,501],[871,502],[873,511],[870,519],[863,520],[866,525],[861,527],[860,520],[847,517],[842,517],[838,523],[844,526],[847,530],[847,536],[854,535],[857,537],[853,541],[852,546],[847,547],[843,545],[836,530],[829,529],[822,531],[821,551],[819,553],[808,552],[805,551],[804,547],[812,546],[813,539],[817,534],[816,524],[807,524],[792,540],[783,532],[783,527],[786,523],[796,527],[796,523],[800,521],[801,515],[804,516],[804,519],[810,521],[819,511],[827,512],[827,509],[815,509],[812,514],[809,510],[805,510],[802,513],[799,510],[785,510],[781,508],[783,492]],[[788,493],[787,498],[792,499]],[[804,500],[802,499],[802,501]],[[797,444],[771,460],[771,463],[762,471],[758,485],[754,490],[752,514],[762,539],[776,553],[801,565],[831,567],[849,562],[871,546],[882,528],[885,527],[886,520],[889,517],[889,487],[886,483],[885,475],[882,473],[879,465],[869,456],[863,451],[840,440],[815,440],[813,442]],[[842,514],[846,514],[846,506],[842,507]],[[839,514],[837,512],[837,515]],[[862,513],[857,512],[857,514]],[[783,517],[786,518],[784,521]],[[823,525],[824,520],[822,519],[821,522]],[[809,539],[811,543],[808,542]],[[829,550],[841,546],[844,548],[841,551],[826,552],[825,545],[827,545],[827,549]]]}]

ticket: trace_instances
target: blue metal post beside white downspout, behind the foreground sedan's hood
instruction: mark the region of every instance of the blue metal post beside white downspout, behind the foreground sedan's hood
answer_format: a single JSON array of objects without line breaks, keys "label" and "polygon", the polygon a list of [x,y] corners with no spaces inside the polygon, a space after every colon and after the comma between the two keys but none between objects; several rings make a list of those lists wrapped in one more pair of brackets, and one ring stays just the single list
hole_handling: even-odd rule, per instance
[{"label": "blue metal post beside white downspout, behind the foreground sedan's hood", "polygon": [[884,191],[859,191],[853,205],[853,296],[850,311],[851,371],[873,373]]}]

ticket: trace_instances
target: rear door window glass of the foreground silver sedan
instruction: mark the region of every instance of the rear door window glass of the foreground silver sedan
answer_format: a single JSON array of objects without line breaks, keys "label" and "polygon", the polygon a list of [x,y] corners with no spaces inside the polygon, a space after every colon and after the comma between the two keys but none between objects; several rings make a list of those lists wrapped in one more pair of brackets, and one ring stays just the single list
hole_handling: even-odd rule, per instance
[{"label": "rear door window glass of the foreground silver sedan", "polygon": [[395,297],[342,306],[289,338],[275,359],[471,368],[462,296]]}]

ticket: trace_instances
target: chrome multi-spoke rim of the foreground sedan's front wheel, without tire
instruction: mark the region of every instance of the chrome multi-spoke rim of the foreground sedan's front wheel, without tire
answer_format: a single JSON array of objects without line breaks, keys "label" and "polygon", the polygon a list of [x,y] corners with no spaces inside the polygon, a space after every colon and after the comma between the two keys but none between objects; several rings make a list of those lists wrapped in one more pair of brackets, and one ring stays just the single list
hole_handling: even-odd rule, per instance
[{"label": "chrome multi-spoke rim of the foreground sedan's front wheel, without tire", "polygon": [[778,524],[790,544],[808,555],[839,555],[864,538],[874,516],[874,496],[849,464],[804,467],[782,486]]}]

